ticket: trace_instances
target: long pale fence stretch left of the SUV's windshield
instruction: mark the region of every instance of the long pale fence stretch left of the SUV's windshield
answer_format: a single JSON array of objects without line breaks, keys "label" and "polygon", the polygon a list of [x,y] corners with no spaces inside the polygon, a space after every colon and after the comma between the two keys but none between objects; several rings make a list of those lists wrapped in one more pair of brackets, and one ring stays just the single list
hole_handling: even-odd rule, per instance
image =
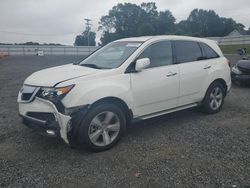
[{"label": "long pale fence stretch left of the SUV's windshield", "polygon": [[0,45],[0,55],[88,55],[97,50],[95,46],[43,46],[43,45]]}]

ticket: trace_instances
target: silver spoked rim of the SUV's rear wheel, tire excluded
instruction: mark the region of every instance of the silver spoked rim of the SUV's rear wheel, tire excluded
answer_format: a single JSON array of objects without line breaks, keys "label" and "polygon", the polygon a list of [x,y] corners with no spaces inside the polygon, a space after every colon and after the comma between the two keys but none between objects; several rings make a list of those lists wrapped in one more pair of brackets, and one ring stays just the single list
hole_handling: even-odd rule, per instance
[{"label": "silver spoked rim of the SUV's rear wheel, tire excluded", "polygon": [[210,94],[210,107],[218,110],[222,104],[223,92],[220,87],[215,87]]}]

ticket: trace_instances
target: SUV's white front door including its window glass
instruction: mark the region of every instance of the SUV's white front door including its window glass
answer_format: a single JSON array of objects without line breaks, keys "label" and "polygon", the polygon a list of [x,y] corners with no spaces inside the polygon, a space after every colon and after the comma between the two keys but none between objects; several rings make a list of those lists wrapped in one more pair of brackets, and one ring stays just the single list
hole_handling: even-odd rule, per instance
[{"label": "SUV's white front door including its window glass", "polygon": [[150,66],[131,73],[134,115],[145,116],[175,108],[179,97],[179,70],[173,64],[170,41],[147,47],[137,59],[149,58]]}]

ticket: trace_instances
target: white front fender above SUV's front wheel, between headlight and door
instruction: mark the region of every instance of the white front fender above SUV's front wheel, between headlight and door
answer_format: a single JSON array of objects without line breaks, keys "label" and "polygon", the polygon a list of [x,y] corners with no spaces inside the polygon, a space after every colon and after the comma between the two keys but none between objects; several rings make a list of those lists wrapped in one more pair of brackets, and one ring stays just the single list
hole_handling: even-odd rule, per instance
[{"label": "white front fender above SUV's front wheel, between headlight and door", "polygon": [[132,109],[133,103],[130,88],[130,76],[128,74],[122,74],[109,78],[75,83],[75,87],[62,100],[62,103],[65,107],[70,108],[93,104],[105,97],[119,98]]}]

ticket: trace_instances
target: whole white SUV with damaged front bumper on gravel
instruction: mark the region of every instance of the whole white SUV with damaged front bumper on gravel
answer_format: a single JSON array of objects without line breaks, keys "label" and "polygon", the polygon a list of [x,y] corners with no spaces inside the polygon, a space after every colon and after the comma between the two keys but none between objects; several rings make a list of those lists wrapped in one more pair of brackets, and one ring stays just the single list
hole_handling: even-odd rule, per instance
[{"label": "whole white SUV with damaged front bumper on gravel", "polygon": [[134,120],[195,106],[217,113],[230,87],[229,63],[216,42],[138,37],[114,41],[77,64],[35,72],[18,103],[27,126],[101,151]]}]

